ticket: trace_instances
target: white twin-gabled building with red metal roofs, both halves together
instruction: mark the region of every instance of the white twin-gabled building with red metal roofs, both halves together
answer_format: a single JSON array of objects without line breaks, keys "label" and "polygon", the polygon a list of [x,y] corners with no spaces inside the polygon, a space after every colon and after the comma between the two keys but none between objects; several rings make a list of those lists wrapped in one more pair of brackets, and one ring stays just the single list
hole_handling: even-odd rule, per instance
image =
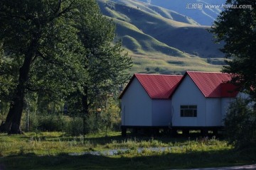
[{"label": "white twin-gabled building with red metal roofs, both halves together", "polygon": [[183,76],[134,74],[122,99],[122,134],[127,128],[218,130],[238,96],[230,74],[186,72]]}]

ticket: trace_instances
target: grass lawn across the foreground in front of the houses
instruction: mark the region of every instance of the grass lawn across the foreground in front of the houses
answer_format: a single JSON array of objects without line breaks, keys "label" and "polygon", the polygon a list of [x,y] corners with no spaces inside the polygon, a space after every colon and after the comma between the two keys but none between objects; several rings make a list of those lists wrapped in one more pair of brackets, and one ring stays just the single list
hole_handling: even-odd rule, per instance
[{"label": "grass lawn across the foreground in front of the houses", "polygon": [[[139,147],[171,147],[164,151]],[[128,148],[114,156],[68,153]],[[61,132],[0,134],[0,169],[186,169],[255,164],[256,149],[234,149],[200,137],[121,137],[119,132],[70,137]]]}]

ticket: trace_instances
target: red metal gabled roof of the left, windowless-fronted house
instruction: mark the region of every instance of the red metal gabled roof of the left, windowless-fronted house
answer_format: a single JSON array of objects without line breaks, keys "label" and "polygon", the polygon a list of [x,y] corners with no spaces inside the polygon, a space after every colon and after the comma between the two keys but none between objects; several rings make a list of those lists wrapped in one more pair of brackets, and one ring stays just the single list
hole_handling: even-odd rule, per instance
[{"label": "red metal gabled roof of the left, windowless-fronted house", "polygon": [[136,78],[152,99],[168,99],[174,93],[183,76],[163,74],[134,74],[119,98],[122,98],[129,85]]}]

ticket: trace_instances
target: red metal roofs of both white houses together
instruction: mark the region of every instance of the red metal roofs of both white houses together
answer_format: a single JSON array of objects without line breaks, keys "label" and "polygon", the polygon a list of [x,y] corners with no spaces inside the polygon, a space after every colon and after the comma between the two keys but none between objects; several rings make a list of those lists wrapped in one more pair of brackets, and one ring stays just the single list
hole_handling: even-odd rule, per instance
[{"label": "red metal roofs of both white houses together", "polygon": [[171,98],[183,79],[189,76],[206,98],[235,97],[238,86],[230,83],[231,75],[220,72],[186,72],[184,76],[163,74],[134,74],[119,98],[122,98],[133,79],[137,78],[152,99]]}]

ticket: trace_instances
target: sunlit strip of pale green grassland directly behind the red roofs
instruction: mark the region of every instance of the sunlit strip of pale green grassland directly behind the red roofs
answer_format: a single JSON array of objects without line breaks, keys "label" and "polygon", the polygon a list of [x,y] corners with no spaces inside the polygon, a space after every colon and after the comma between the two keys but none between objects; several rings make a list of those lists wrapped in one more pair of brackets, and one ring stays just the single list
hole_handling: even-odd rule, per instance
[{"label": "sunlit strip of pale green grassland directly behind the red roofs", "polygon": [[[185,70],[220,72],[222,66],[209,64],[201,57],[172,57],[162,54],[131,55],[134,62],[131,73],[183,74]],[[222,60],[215,60],[215,62]]]}]

